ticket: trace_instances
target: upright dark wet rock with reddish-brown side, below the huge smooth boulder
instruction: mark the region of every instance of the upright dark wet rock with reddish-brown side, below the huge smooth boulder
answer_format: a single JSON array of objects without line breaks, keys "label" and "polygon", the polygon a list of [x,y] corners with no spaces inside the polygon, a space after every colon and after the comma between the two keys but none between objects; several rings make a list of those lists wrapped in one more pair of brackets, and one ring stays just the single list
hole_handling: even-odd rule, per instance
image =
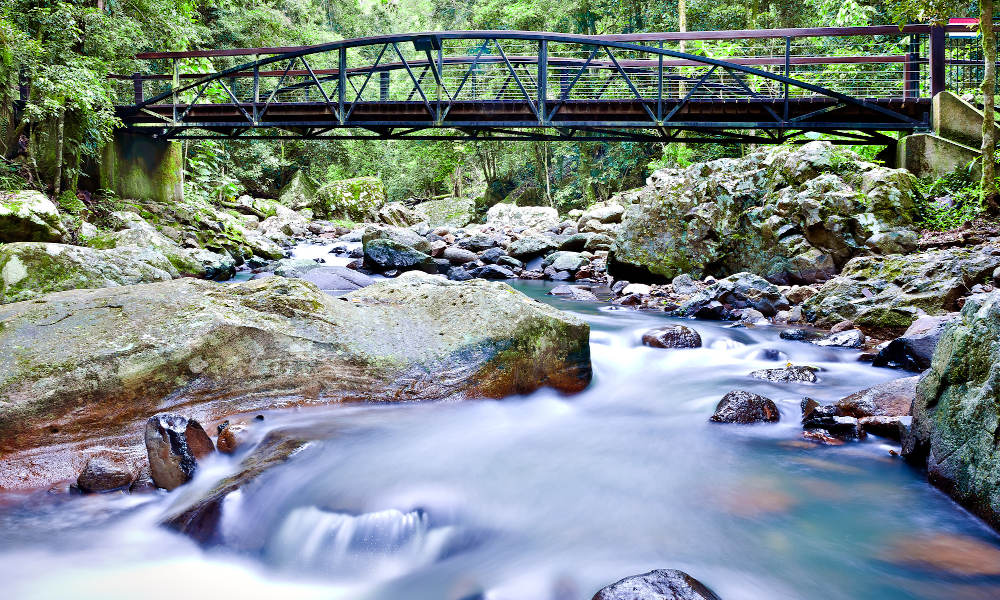
[{"label": "upright dark wet rock with reddish-brown side, below the huge smooth boulder", "polygon": [[163,413],[146,421],[146,452],[153,483],[165,490],[184,485],[198,461],[215,452],[211,438],[194,419]]}]

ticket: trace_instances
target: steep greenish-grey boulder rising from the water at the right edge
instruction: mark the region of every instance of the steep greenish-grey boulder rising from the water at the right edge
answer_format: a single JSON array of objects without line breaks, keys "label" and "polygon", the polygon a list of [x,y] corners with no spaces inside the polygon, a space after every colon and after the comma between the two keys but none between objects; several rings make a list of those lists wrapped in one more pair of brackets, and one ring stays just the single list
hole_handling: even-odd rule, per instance
[{"label": "steep greenish-grey boulder rising from the water at the right edge", "polygon": [[917,384],[903,454],[1000,529],[1000,292],[971,296]]}]

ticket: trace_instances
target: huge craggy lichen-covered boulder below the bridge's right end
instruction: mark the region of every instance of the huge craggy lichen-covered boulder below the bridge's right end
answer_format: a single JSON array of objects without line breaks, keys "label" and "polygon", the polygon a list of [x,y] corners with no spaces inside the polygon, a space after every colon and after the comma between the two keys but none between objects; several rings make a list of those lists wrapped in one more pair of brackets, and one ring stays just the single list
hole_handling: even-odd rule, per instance
[{"label": "huge craggy lichen-covered boulder below the bridge's right end", "polygon": [[917,197],[905,171],[826,142],[659,170],[613,199],[624,212],[609,267],[632,281],[739,271],[823,281],[869,253],[872,236],[909,228]]}]

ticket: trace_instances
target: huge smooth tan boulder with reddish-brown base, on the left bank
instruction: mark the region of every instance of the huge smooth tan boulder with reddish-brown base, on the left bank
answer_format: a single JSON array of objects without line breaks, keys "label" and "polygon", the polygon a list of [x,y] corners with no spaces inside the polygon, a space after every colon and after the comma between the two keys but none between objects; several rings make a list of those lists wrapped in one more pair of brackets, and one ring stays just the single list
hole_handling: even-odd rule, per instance
[{"label": "huge smooth tan boulder with reddish-brown base, on the left bank", "polygon": [[58,292],[0,307],[0,487],[76,477],[88,449],[141,444],[165,411],[210,426],[279,406],[576,392],[590,377],[587,324],[498,282]]}]

